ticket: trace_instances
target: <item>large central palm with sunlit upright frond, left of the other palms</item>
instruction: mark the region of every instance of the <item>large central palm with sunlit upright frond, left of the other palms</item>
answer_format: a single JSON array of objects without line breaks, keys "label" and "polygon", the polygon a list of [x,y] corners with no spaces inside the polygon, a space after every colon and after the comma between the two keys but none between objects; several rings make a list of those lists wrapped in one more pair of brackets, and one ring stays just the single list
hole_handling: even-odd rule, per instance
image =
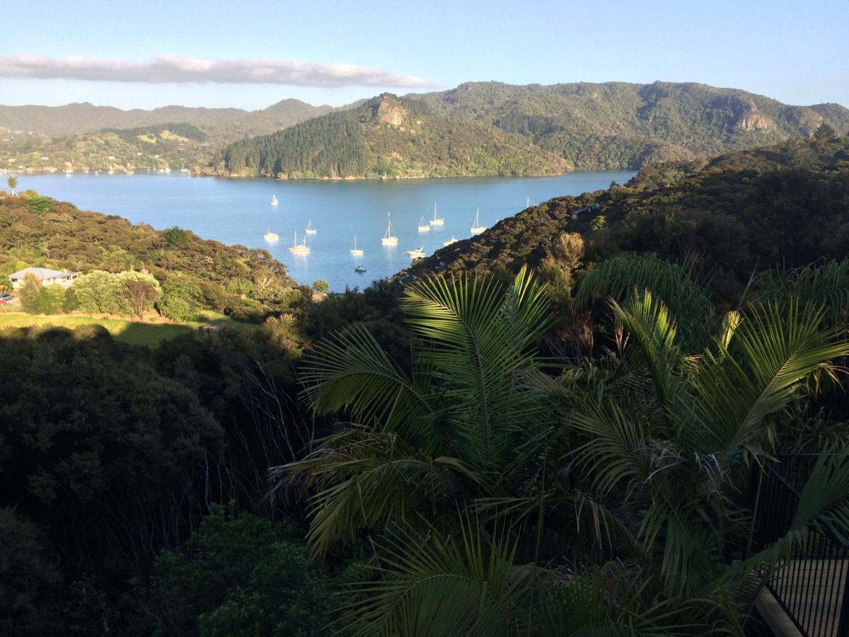
[{"label": "large central palm with sunlit upright frond, left of the other palms", "polygon": [[306,459],[272,470],[305,476],[312,549],[390,522],[451,517],[503,493],[517,452],[541,435],[551,402],[521,375],[539,368],[532,345],[548,322],[543,287],[522,270],[509,290],[493,279],[435,277],[410,285],[402,308],[413,335],[402,369],[363,328],[320,343],[301,379],[316,414],[355,424]]}]

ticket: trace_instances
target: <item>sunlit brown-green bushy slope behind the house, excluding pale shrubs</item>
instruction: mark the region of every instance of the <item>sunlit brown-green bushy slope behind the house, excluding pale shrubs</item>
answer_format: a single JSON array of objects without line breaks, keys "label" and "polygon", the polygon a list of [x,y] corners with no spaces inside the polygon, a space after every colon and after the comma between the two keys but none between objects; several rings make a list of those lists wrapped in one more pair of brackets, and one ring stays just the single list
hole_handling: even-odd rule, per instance
[{"label": "sunlit brown-green bushy slope behind the house, excluding pale shrubs", "polygon": [[146,271],[192,290],[197,307],[261,318],[284,305],[295,281],[267,251],[202,240],[182,228],[146,224],[25,191],[0,194],[0,285],[37,266],[80,273]]}]

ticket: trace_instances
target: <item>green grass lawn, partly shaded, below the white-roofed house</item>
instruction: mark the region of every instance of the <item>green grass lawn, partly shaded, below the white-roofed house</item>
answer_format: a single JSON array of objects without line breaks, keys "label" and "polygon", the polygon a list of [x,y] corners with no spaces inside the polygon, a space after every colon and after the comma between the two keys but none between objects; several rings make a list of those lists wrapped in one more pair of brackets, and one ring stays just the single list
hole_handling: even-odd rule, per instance
[{"label": "green grass lawn, partly shaded, below the white-roofed house", "polygon": [[155,347],[160,341],[166,341],[181,334],[200,334],[202,323],[139,323],[120,318],[92,318],[88,316],[68,316],[53,314],[37,316],[32,314],[0,314],[0,330],[4,328],[29,327],[30,325],[56,325],[73,330],[80,325],[103,325],[115,336],[115,340],[132,345]]}]

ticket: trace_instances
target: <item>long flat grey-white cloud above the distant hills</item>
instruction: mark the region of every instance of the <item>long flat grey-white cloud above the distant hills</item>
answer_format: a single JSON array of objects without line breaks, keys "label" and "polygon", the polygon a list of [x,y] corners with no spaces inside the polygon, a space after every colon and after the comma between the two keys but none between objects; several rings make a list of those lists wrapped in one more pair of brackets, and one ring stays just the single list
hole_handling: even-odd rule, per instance
[{"label": "long flat grey-white cloud above the distant hills", "polygon": [[119,59],[0,58],[0,77],[87,80],[89,82],[285,84],[298,87],[433,87],[416,76],[349,64],[285,59],[191,59],[159,55],[146,62]]}]

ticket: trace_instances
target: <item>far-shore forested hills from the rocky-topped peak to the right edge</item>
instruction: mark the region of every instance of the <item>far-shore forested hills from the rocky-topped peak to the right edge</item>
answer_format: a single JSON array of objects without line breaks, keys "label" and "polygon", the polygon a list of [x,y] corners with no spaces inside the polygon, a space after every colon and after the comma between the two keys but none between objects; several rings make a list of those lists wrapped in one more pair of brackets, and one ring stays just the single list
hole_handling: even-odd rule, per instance
[{"label": "far-shore forested hills from the rocky-topped peak to the right edge", "polygon": [[344,178],[638,169],[808,138],[824,121],[846,132],[849,110],[788,106],[692,83],[469,82],[438,93],[382,95],[346,116],[240,140],[213,172]]}]

